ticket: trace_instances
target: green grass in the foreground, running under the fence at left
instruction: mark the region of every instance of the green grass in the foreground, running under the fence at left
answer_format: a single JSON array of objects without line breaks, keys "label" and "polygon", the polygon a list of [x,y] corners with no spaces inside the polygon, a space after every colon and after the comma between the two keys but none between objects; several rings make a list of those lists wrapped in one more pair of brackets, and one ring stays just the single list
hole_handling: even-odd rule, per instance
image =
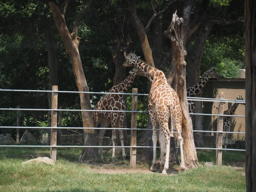
[{"label": "green grass in the foreground, running under the fence at left", "polygon": [[[215,155],[210,151],[201,152],[198,153],[198,159],[202,159],[202,162],[205,159],[209,161],[208,158]],[[58,148],[56,166],[23,165],[21,163],[32,159],[32,156],[49,157],[49,148],[0,148],[0,191],[242,192],[246,190],[245,176],[227,166],[199,167],[175,175],[159,173],[108,175],[93,172],[90,169],[92,165],[77,163],[80,154],[79,148]],[[227,156],[237,157],[235,154],[227,154]],[[119,164],[129,169],[128,162]],[[141,166],[141,169],[147,169],[147,163],[144,163],[144,168]]]}]

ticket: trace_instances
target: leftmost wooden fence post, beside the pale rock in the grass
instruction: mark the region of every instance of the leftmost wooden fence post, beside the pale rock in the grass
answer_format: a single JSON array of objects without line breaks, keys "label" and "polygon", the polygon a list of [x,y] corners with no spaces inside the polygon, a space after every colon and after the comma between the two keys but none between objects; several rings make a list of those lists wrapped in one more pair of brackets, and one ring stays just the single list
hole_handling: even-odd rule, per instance
[{"label": "leftmost wooden fence post, beside the pale rock in the grass", "polygon": [[[52,90],[58,91],[57,85],[52,85]],[[58,93],[52,92],[52,110],[58,109]],[[52,124],[51,127],[57,128],[57,116],[58,111],[52,111]],[[57,129],[51,128],[51,145],[57,145]],[[50,150],[50,158],[54,161],[56,161],[56,155],[57,155],[57,148],[51,147]]]}]

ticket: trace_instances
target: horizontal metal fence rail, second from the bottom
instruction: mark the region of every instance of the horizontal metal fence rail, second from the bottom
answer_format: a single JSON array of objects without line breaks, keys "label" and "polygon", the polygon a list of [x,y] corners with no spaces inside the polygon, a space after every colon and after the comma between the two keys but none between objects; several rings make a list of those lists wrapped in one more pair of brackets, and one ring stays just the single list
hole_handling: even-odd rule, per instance
[{"label": "horizontal metal fence rail, second from the bottom", "polygon": [[[0,126],[0,128],[24,128],[24,129],[105,129],[105,130],[137,130],[137,131],[145,131],[152,130],[147,128],[101,128],[101,127],[16,127],[16,126]],[[161,131],[157,129],[157,131]],[[172,130],[169,130],[172,131]],[[176,130],[173,130],[176,131]],[[193,130],[193,132],[205,132],[205,133],[231,133],[231,134],[245,134],[245,132],[229,132],[229,131],[201,131],[201,130]]]}]

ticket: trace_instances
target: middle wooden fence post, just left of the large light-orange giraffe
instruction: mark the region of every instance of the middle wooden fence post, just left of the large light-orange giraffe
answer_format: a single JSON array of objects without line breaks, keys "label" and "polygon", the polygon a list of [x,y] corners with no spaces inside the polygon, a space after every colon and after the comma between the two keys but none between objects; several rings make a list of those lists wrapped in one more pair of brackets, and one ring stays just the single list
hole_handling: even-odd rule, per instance
[{"label": "middle wooden fence post, just left of the large light-orange giraffe", "polygon": [[[132,89],[132,93],[138,93],[137,88]],[[131,111],[137,111],[137,95],[132,95]],[[131,113],[131,128],[137,128],[137,112]],[[131,146],[137,146],[137,130],[131,130]],[[136,166],[136,148],[131,147],[130,167]]]}]

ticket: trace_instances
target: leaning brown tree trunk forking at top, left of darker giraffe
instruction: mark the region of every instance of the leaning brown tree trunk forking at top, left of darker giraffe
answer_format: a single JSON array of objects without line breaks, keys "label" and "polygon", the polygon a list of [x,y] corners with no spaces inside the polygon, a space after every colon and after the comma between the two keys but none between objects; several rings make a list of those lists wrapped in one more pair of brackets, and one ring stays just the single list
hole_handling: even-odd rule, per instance
[{"label": "leaning brown tree trunk forking at top, left of darker giraffe", "polygon": [[[81,57],[79,54],[79,41],[78,28],[81,19],[88,11],[91,4],[91,0],[87,2],[84,9],[76,15],[76,20],[73,26],[73,32],[70,34],[65,23],[64,15],[61,13],[58,6],[49,1],[49,6],[52,10],[52,15],[55,20],[57,29],[61,35],[62,41],[66,47],[67,53],[70,56],[73,73],[76,79],[76,85],[79,91],[89,91],[87,81],[84,76],[84,70],[82,67]],[[79,93],[81,109],[91,109],[90,95],[88,93]],[[92,113],[88,111],[82,111],[83,127],[93,127]],[[94,129],[84,129],[84,145],[96,145],[96,138],[94,137]],[[95,160],[99,155],[96,148],[84,148],[79,161]]]}]

